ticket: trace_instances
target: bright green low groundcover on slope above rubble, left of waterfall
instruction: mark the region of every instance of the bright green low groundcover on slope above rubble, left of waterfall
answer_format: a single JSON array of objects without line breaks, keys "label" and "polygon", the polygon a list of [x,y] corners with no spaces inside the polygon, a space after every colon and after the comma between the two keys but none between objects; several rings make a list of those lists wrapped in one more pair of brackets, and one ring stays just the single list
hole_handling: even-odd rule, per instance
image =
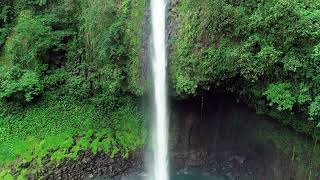
[{"label": "bright green low groundcover on slope above rubble, left of waterfall", "polygon": [[77,158],[85,150],[94,154],[103,151],[110,158],[118,153],[127,157],[144,145],[146,134],[135,103],[124,101],[126,105],[107,119],[99,116],[93,105],[75,101],[43,103],[27,110],[23,117],[0,119],[0,167],[32,164],[29,169],[18,170],[22,177],[41,169],[46,157],[50,163],[58,163]]}]

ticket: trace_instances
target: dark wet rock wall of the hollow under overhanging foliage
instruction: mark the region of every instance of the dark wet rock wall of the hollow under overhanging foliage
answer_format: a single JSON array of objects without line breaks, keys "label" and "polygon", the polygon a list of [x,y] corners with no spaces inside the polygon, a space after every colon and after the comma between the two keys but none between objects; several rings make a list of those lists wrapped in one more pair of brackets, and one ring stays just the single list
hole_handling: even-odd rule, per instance
[{"label": "dark wet rock wall of the hollow under overhanging foliage", "polygon": [[226,97],[176,103],[170,130],[171,164],[231,180],[305,179],[271,140],[256,137],[263,119],[242,107]]}]

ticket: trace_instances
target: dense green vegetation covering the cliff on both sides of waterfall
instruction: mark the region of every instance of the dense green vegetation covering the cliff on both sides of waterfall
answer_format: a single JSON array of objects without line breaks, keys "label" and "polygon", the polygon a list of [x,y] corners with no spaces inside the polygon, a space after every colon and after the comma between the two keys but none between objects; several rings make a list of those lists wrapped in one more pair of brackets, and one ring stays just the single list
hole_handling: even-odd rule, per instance
[{"label": "dense green vegetation covering the cliff on both sides of waterfall", "polygon": [[[55,164],[85,149],[126,157],[145,143],[147,7],[0,1],[0,179],[36,174],[44,158]],[[175,97],[222,88],[319,137],[320,1],[181,0],[169,14]]]}]

